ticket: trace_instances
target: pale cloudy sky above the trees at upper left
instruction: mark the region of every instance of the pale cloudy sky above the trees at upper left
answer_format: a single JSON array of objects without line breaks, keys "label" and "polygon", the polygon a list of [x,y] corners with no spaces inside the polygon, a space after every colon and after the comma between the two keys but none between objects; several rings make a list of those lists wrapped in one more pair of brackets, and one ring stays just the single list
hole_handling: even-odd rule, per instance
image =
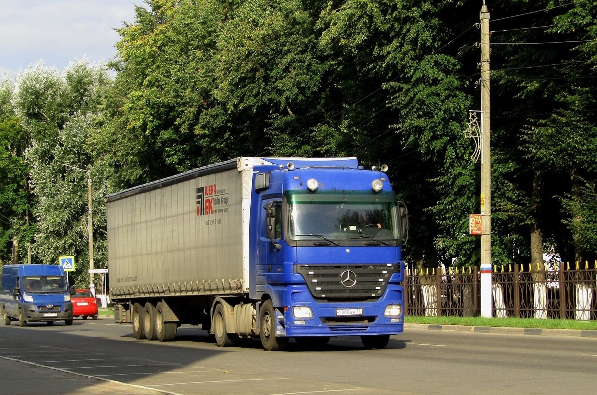
[{"label": "pale cloudy sky above the trees at upper left", "polygon": [[38,61],[64,70],[75,59],[106,63],[114,30],[132,23],[143,0],[0,0],[0,80]]}]

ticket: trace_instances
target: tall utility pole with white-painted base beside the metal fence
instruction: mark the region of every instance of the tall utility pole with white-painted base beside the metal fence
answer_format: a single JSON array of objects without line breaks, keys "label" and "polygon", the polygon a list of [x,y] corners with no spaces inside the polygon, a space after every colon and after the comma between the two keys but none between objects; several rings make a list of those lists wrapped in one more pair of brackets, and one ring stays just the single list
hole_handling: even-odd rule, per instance
[{"label": "tall utility pole with white-painted base beside the metal fence", "polygon": [[481,316],[491,317],[491,129],[490,129],[490,14],[483,1],[481,13]]}]

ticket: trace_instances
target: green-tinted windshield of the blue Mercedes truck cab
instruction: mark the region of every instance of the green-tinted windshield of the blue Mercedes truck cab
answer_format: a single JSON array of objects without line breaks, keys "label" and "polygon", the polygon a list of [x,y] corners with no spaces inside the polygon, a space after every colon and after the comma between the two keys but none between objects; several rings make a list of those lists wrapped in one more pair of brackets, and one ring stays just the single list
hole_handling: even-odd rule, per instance
[{"label": "green-tinted windshield of the blue Mercedes truck cab", "polygon": [[291,239],[399,239],[393,192],[293,191],[286,197]]}]

